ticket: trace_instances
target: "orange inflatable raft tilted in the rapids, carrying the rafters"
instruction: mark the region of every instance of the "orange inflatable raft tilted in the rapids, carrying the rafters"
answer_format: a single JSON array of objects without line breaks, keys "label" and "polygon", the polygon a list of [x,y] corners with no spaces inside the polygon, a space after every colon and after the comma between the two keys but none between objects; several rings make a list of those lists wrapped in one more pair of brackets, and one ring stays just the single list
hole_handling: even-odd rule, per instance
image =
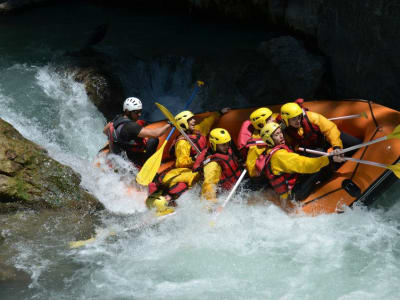
[{"label": "orange inflatable raft tilted in the rapids, carrying the rafters", "polygon": [[[280,110],[280,105],[268,107],[273,112],[279,112]],[[392,133],[400,123],[400,112],[366,100],[311,101],[305,102],[304,107],[327,118],[366,113],[368,118],[359,117],[334,121],[341,131],[358,137],[363,142]],[[236,141],[241,124],[249,118],[249,115],[255,109],[257,107],[233,109],[224,114],[214,124],[214,127],[227,129],[232,139]],[[203,118],[208,114],[197,114],[196,117]],[[148,125],[148,127],[155,128],[164,124],[165,121],[159,121]],[[175,133],[169,139],[165,149],[169,149],[177,134]],[[160,138],[159,145],[162,145],[166,136],[167,134]],[[386,165],[394,164],[400,158],[400,140],[396,138],[388,139],[360,148],[353,155],[353,158]],[[173,161],[168,157],[168,151],[164,151],[163,163],[159,172],[171,165],[173,165]],[[396,179],[392,172],[387,169],[346,161],[328,182],[322,184],[308,198],[297,204],[292,202],[281,203],[271,192],[265,194],[265,198],[273,201],[287,212],[308,215],[335,213],[341,212],[343,206],[352,206],[356,201],[362,201],[367,205],[372,203]]]}]

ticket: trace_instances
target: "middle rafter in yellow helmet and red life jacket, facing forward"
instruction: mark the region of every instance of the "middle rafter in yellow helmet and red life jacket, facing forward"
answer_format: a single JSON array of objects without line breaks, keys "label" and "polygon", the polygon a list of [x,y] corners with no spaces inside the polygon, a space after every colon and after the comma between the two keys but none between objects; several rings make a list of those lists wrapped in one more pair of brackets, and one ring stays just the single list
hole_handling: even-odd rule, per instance
[{"label": "middle rafter in yellow helmet and red life jacket, facing forward", "polygon": [[243,168],[226,129],[211,130],[209,142],[211,149],[203,150],[197,157],[194,168],[203,168],[204,182],[201,195],[214,204],[217,203],[217,187],[230,190],[240,177]]}]

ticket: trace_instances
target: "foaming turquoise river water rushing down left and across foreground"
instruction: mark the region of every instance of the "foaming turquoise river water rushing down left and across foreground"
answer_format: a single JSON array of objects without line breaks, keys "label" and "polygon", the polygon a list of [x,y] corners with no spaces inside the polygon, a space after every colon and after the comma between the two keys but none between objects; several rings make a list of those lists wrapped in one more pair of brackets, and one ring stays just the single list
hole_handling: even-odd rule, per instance
[{"label": "foaming turquoise river water rushing down left and across foreground", "polygon": [[[44,221],[34,213],[15,216],[16,226],[33,219],[37,233],[23,236],[17,230],[1,230],[15,253],[8,263],[29,277],[3,284],[1,299],[399,299],[399,184],[370,210],[356,206],[343,214],[314,218],[288,216],[268,202],[246,206],[241,202],[252,195],[241,192],[215,226],[210,226],[210,216],[194,189],[179,200],[176,216],[135,230],[143,204],[126,196],[117,174],[92,166],[106,141],[102,135],[106,121],[83,86],[56,68],[61,52],[84,43],[89,33],[82,28],[95,26],[98,20],[88,8],[75,7],[74,17],[65,17],[65,9],[46,8],[53,15],[51,30],[51,20],[38,18],[36,12],[0,21],[8,26],[6,35],[0,36],[0,117],[79,172],[82,185],[107,211],[97,227],[96,242],[76,250],[68,248],[75,237],[62,222],[64,216]],[[105,13],[98,9],[97,15]],[[106,16],[113,14],[117,12]],[[118,16],[119,26],[135,18]],[[71,19],[76,20],[72,25]],[[170,23],[160,27],[156,22],[160,19]],[[148,24],[144,28],[149,31],[141,27],[135,33],[136,43],[127,35],[121,44],[142,52],[149,36],[156,45],[166,43],[179,23],[176,17],[142,15],[134,20]],[[30,22],[35,26],[27,26]],[[188,29],[181,30],[183,40],[190,41],[185,35]],[[225,44],[240,44],[234,33]],[[207,48],[201,38],[192,41]],[[121,51],[113,37],[102,47],[110,53],[113,47]],[[174,75],[181,86],[189,80],[185,68],[190,70],[190,63]],[[153,83],[163,82],[164,75],[159,76]],[[173,97],[162,95],[171,106],[184,101],[178,93],[180,84],[175,85]],[[149,94],[162,91],[156,84],[147,88]]]}]

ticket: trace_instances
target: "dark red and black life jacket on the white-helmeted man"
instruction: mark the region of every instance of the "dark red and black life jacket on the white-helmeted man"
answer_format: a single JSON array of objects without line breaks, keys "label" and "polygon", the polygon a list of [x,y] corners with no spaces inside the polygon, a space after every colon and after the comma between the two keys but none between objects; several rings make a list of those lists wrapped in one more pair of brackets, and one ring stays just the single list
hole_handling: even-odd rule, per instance
[{"label": "dark red and black life jacket on the white-helmeted man", "polygon": [[[107,137],[110,145],[111,153],[119,154],[122,150],[132,151],[132,152],[144,152],[146,148],[146,140],[144,138],[137,137],[135,140],[123,141],[119,139],[122,127],[126,123],[133,122],[128,118],[123,116],[117,116],[112,122],[107,130]],[[144,121],[138,120],[136,123],[143,126]]]}]

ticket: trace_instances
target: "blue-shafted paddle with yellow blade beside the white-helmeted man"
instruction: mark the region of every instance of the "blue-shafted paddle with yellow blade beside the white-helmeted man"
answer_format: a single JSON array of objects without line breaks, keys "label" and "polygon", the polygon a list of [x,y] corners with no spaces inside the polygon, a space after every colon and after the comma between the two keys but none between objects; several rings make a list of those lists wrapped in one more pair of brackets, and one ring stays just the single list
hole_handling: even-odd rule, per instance
[{"label": "blue-shafted paddle with yellow blade beside the white-helmeted man", "polygon": [[[192,103],[194,97],[196,96],[197,92],[199,91],[199,88],[204,85],[203,81],[197,81],[197,85],[193,90],[192,95],[190,96],[189,100],[186,102],[184,110],[189,107],[189,105]],[[168,140],[172,136],[172,134],[175,131],[175,128],[172,128],[170,133],[168,134],[167,138],[165,139],[164,143],[158,150],[149,157],[149,159],[144,163],[142,166],[142,169],[136,176],[136,182],[139,183],[140,185],[149,185],[150,182],[153,181],[154,177],[157,174],[158,169],[160,168],[161,165],[161,159],[163,156],[164,148],[167,145]]]}]

